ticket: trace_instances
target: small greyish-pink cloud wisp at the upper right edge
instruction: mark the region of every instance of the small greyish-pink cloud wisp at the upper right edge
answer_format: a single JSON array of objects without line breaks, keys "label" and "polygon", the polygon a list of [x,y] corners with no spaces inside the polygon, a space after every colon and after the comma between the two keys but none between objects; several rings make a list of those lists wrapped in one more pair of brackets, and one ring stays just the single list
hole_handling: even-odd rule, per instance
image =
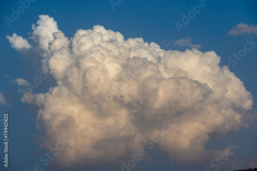
[{"label": "small greyish-pink cloud wisp at the upper right edge", "polygon": [[238,34],[253,33],[257,35],[257,26],[248,26],[244,23],[237,24],[233,29],[231,29],[228,34],[236,36]]}]

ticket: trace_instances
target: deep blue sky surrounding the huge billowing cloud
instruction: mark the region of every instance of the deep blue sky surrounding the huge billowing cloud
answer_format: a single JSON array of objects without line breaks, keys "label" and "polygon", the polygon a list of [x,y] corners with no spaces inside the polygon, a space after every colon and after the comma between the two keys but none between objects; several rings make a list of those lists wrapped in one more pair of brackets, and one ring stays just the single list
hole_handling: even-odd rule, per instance
[{"label": "deep blue sky surrounding the huge billowing cloud", "polygon": [[[116,0],[114,0],[117,2]],[[122,2],[122,1],[120,1]],[[248,26],[257,26],[257,3],[254,1],[217,1],[207,0],[206,6],[191,19],[190,23],[178,32],[175,22],[182,23],[182,14],[191,11],[190,6],[199,5],[200,1],[134,1],[125,0],[115,6],[113,10],[109,1],[35,1],[25,12],[10,23],[8,27],[4,17],[11,18],[12,9],[16,11],[21,6],[19,1],[1,1],[1,45],[0,51],[0,92],[6,100],[6,104],[0,104],[0,119],[4,113],[9,114],[9,167],[6,168],[1,162],[1,170],[31,170],[35,164],[40,164],[42,170],[48,170],[39,161],[39,157],[45,151],[39,149],[37,138],[44,130],[36,129],[35,109],[28,103],[21,102],[23,93],[19,93],[20,87],[15,84],[15,79],[23,78],[31,81],[31,77],[25,73],[25,62],[21,55],[13,48],[6,39],[7,35],[28,37],[32,31],[31,25],[39,19],[39,15],[53,17],[66,37],[74,36],[78,29],[91,29],[95,25],[104,26],[105,29],[118,31],[124,39],[142,37],[144,41],[156,42],[161,49],[185,51],[192,49],[189,46],[174,45],[176,40],[192,37],[187,43],[201,45],[201,52],[214,51],[221,56],[220,66],[229,66],[231,72],[244,82],[247,91],[253,98],[257,97],[257,45],[253,47],[242,60],[238,60],[235,66],[228,61],[229,56],[238,53],[247,43],[246,39],[257,41],[257,33],[242,33],[231,35],[228,32],[236,25],[244,23]],[[256,30],[256,29],[255,29]],[[170,42],[170,44],[169,44]],[[51,85],[51,84],[50,84]],[[50,86],[44,85],[34,93],[48,92]],[[254,113],[256,105],[253,105]],[[255,113],[256,115],[256,113]],[[3,123],[0,122],[1,130]],[[256,121],[248,129],[242,128],[237,132],[229,132],[226,135],[210,134],[210,140],[206,143],[207,150],[227,147],[228,143],[236,142],[240,147],[236,152],[237,158],[255,156],[257,154]],[[2,134],[2,133],[1,133]],[[1,135],[1,139],[3,136]],[[1,158],[4,156],[4,146],[1,144]],[[141,161],[135,170],[205,170],[209,163],[187,165],[172,163],[167,154],[157,149],[149,152],[151,162]],[[256,157],[257,159],[257,157]],[[255,166],[257,167],[257,165]],[[214,168],[214,167],[212,167]],[[94,168],[100,170],[121,170],[120,166],[101,166]],[[223,165],[219,170],[226,170]],[[235,169],[244,169],[238,168]]]}]

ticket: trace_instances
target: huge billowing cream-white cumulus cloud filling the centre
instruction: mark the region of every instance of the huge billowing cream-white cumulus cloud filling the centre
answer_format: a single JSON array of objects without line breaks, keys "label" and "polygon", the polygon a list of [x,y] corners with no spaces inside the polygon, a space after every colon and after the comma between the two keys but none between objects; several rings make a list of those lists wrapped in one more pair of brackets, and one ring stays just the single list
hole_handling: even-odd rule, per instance
[{"label": "huge billowing cream-white cumulus cloud filling the centre", "polygon": [[[48,15],[40,15],[32,29],[31,51],[41,54],[56,86],[27,92],[22,101],[38,106],[43,147],[68,137],[69,145],[53,159],[60,169],[120,164],[140,147],[147,149],[145,140],[168,120],[176,126],[156,148],[173,162],[209,162],[223,153],[206,151],[210,133],[249,124],[252,95],[228,67],[219,66],[221,57],[213,51],[164,51],[99,25],[68,38]],[[212,86],[217,73],[222,76]],[[199,93],[206,85],[211,91]]]}]

